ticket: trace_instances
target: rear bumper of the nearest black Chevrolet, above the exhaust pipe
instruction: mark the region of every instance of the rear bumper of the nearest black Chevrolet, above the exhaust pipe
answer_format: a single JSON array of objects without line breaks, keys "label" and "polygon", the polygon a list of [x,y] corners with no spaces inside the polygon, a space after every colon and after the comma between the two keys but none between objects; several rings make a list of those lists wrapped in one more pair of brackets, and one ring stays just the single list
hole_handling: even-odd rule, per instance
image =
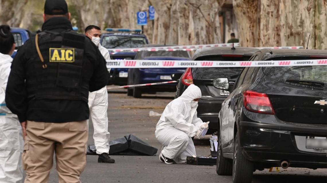
[{"label": "rear bumper of the nearest black Chevrolet, above the exhaust pipe", "polygon": [[240,121],[240,144],[243,155],[265,168],[280,166],[327,168],[327,149],[306,148],[306,136],[327,135],[327,125],[284,125]]}]

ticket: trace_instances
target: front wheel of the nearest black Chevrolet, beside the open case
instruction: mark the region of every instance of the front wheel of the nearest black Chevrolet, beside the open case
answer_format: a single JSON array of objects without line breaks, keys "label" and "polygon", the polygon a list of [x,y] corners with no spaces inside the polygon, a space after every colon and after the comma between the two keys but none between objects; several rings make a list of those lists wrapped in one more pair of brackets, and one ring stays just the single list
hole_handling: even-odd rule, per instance
[{"label": "front wheel of the nearest black Chevrolet, beside the open case", "polygon": [[219,137],[218,152],[217,152],[216,172],[220,176],[231,176],[233,172],[233,160],[223,157],[223,150],[221,148],[220,137]]}]

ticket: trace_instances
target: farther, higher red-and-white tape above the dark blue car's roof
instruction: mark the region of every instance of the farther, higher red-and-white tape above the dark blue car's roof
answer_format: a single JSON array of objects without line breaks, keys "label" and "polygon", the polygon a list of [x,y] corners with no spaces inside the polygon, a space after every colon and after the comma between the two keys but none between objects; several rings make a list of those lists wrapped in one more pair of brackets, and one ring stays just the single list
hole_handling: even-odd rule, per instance
[{"label": "farther, higher red-and-white tape above the dark blue car's roof", "polygon": [[[186,45],[186,46],[163,46],[163,47],[144,47],[144,48],[124,48],[124,49],[108,49],[108,51],[113,52],[136,52],[141,49],[199,49],[199,48],[211,48],[211,47],[232,47],[232,43],[222,43],[222,44],[209,44],[209,45]],[[238,47],[239,43],[234,43],[234,47]]]}]

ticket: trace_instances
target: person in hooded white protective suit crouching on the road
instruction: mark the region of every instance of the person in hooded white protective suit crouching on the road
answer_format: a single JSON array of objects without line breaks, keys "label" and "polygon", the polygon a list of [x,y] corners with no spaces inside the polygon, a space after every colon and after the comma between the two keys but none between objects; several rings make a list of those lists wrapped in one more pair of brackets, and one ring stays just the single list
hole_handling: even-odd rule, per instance
[{"label": "person in hooded white protective suit crouching on the road", "polygon": [[192,84],[164,109],[155,131],[163,145],[161,162],[185,163],[187,156],[196,156],[192,137],[204,136],[209,128],[209,121],[204,123],[197,115],[200,98],[201,90]]}]

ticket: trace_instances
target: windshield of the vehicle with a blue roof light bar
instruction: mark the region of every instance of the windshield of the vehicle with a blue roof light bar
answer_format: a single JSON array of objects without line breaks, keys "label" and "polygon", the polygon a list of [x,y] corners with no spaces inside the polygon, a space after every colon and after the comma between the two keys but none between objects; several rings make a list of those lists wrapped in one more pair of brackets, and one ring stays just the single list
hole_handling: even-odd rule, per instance
[{"label": "windshield of the vehicle with a blue roof light bar", "polygon": [[141,36],[105,36],[101,45],[110,48],[138,48],[146,44],[146,39]]}]

